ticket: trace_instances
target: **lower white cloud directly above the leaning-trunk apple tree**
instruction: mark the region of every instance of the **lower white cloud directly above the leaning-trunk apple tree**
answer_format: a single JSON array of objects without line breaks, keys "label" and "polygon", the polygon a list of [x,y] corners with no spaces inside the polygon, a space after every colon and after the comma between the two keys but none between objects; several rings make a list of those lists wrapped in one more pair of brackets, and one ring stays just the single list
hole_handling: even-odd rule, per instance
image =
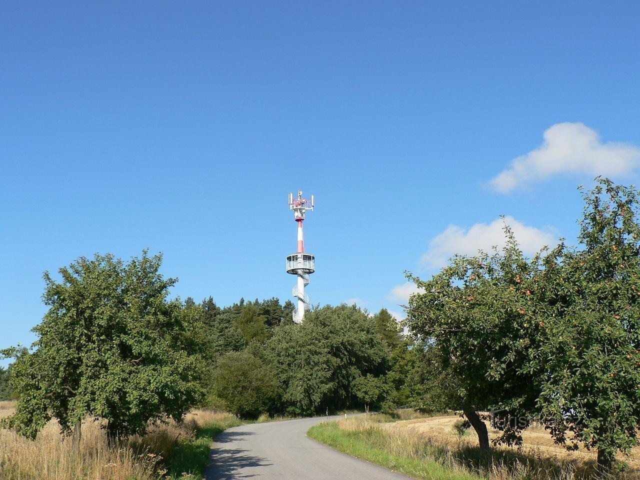
[{"label": "lower white cloud directly above the leaning-trunk apple tree", "polygon": [[431,240],[429,250],[422,255],[422,262],[430,268],[439,268],[453,255],[476,255],[478,250],[488,252],[494,245],[503,246],[504,223],[513,230],[516,241],[525,255],[532,255],[542,246],[552,246],[556,243],[557,236],[552,231],[529,227],[511,216],[506,216],[504,220],[497,218],[488,224],[476,223],[467,230],[458,225],[449,225],[444,232]]}]

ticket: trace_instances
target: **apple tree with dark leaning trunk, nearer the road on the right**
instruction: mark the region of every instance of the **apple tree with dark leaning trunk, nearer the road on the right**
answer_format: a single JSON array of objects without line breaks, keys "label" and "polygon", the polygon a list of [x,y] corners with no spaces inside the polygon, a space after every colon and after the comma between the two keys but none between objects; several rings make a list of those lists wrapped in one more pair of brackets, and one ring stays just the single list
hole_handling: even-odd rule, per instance
[{"label": "apple tree with dark leaning trunk, nearer the road on the right", "polygon": [[[529,351],[539,343],[532,292],[540,256],[525,259],[508,226],[505,234],[506,246],[492,255],[456,256],[426,282],[408,275],[424,293],[411,296],[406,324],[452,377],[457,392],[448,396],[460,404],[483,452],[490,444],[478,412],[497,408],[506,417],[528,417],[540,392],[539,379],[527,373]],[[521,442],[519,425],[504,427],[496,442]]]}]

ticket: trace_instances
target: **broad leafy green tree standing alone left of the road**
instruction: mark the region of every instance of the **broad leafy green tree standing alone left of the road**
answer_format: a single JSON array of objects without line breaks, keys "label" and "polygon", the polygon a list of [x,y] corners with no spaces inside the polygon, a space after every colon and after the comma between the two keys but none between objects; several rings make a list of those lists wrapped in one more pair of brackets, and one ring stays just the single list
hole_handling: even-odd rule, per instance
[{"label": "broad leafy green tree standing alone left of the road", "polygon": [[80,257],[45,272],[49,310],[33,331],[35,351],[17,356],[11,381],[20,395],[8,426],[34,438],[51,418],[63,432],[90,415],[108,420],[109,438],[143,433],[149,420],[175,420],[202,399],[205,341],[198,309],[168,301],[173,278],[161,255],[126,264],[113,255]]}]

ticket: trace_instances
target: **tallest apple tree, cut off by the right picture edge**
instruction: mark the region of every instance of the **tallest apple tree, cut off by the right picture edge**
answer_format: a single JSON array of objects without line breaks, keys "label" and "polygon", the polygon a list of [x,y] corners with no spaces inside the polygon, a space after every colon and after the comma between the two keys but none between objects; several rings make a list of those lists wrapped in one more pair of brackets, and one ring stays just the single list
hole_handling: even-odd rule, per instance
[{"label": "tallest apple tree, cut off by the right picture edge", "polygon": [[640,419],[638,193],[608,179],[584,193],[579,249],[548,258],[541,274],[546,340],[531,359],[540,407],[556,442],[582,442],[608,470],[637,445]]}]

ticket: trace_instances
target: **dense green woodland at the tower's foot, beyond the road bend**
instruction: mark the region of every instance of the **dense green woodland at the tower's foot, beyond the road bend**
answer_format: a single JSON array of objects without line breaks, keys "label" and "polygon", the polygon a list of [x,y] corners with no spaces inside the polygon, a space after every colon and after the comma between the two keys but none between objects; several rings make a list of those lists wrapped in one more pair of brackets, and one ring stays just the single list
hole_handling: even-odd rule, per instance
[{"label": "dense green woodland at the tower's foot, beyond the road bend", "polygon": [[255,418],[410,401],[406,372],[397,367],[415,352],[386,309],[369,315],[353,305],[326,306],[294,324],[290,304],[272,298],[221,309],[211,298],[188,301],[200,308],[212,339],[211,406]]}]

